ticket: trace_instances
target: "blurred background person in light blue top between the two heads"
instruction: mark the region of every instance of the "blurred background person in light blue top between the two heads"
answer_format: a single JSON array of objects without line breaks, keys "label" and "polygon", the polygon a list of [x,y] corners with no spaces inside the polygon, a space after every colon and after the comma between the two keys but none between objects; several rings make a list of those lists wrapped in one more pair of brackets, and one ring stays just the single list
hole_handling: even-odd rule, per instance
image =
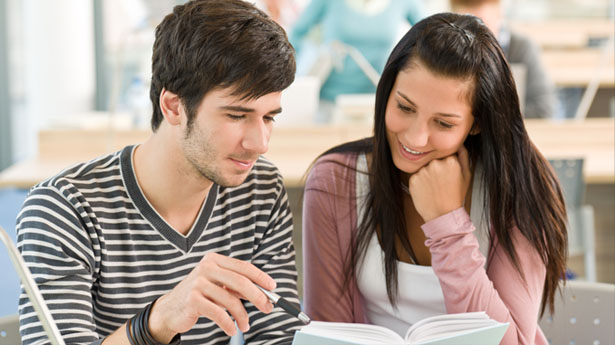
[{"label": "blurred background person in light blue top between the two heads", "polygon": [[[321,77],[320,112],[316,122],[328,122],[335,98],[340,94],[375,93],[378,76],[404,24],[424,16],[419,0],[312,0],[290,31],[298,56],[298,70],[310,49],[308,35],[320,27],[319,57],[312,64],[325,68]],[[313,48],[313,46],[312,46]],[[369,65],[360,66],[350,51],[360,53]],[[355,55],[356,56],[356,55]],[[301,73],[301,72],[299,72]],[[375,82],[374,82],[375,79]]]}]

